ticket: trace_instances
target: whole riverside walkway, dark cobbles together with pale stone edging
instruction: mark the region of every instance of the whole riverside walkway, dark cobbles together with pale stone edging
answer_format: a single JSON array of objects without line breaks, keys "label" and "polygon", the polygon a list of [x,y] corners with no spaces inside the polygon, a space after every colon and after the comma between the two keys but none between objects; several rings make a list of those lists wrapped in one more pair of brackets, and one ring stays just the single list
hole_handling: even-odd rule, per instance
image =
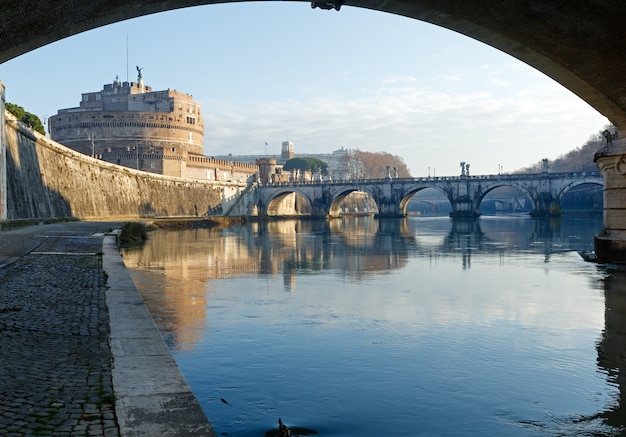
[{"label": "whole riverside walkway, dark cobbles together with pale stone edging", "polygon": [[0,435],[215,436],[103,245],[117,225],[0,232]]}]

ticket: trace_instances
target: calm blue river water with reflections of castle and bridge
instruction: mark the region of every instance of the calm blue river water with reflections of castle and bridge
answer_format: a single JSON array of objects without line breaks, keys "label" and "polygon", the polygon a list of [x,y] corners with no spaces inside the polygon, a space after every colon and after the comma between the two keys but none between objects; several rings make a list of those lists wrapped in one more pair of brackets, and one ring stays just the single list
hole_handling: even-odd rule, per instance
[{"label": "calm blue river water with reflections of castle and bridge", "polygon": [[622,435],[600,216],[159,230],[126,266],[221,436]]}]

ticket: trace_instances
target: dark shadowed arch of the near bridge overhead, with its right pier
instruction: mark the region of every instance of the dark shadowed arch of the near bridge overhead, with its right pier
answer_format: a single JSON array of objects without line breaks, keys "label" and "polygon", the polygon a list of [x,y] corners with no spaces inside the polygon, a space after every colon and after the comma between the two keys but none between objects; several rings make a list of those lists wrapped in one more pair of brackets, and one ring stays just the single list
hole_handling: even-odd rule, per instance
[{"label": "dark shadowed arch of the near bridge overhead, with its right pier", "polygon": [[[0,2],[0,63],[106,24],[230,1],[245,0]],[[626,132],[626,8],[623,0],[332,0],[306,3],[341,9],[316,10],[315,13],[343,13],[346,7],[353,6],[402,15],[482,41],[548,75]],[[398,47],[410,47],[414,43],[398,41]],[[596,163],[605,181],[604,229],[596,237],[596,255],[601,261],[626,263],[626,141],[607,139],[606,147],[596,156]],[[3,186],[6,183],[0,180],[0,189]]]}]

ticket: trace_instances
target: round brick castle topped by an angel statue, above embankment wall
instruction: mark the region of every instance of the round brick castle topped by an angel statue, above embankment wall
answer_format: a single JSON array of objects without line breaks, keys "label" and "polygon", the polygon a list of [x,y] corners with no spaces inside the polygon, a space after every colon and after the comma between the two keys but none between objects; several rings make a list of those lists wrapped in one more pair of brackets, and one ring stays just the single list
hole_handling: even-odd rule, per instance
[{"label": "round brick castle topped by an angel statue, above embankment wall", "polygon": [[207,158],[202,108],[191,95],[152,91],[137,67],[137,82],[83,93],[80,106],[48,119],[50,137],[78,152],[114,164],[167,176],[247,180],[251,164]]}]

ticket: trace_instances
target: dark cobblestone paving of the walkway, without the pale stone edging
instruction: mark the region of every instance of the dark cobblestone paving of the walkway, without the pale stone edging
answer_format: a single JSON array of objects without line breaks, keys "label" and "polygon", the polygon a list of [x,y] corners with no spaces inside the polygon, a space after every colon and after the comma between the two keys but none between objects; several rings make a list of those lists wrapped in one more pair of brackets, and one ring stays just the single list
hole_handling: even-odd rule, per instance
[{"label": "dark cobblestone paving of the walkway, without the pale stone edging", "polygon": [[102,237],[34,238],[0,268],[0,435],[119,436]]}]

